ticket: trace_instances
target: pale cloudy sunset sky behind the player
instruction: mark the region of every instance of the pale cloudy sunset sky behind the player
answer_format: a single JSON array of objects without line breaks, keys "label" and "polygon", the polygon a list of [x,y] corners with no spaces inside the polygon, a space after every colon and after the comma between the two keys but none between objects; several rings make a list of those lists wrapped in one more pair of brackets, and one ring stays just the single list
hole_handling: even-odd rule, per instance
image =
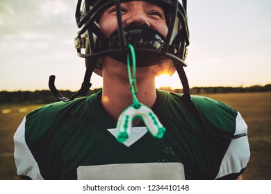
[{"label": "pale cloudy sunset sky behind the player", "polygon": [[[85,64],[74,48],[76,0],[0,1],[0,91],[80,89]],[[271,84],[271,1],[188,0],[190,87]],[[175,73],[157,87],[182,88]],[[93,75],[92,89],[102,80]]]}]

